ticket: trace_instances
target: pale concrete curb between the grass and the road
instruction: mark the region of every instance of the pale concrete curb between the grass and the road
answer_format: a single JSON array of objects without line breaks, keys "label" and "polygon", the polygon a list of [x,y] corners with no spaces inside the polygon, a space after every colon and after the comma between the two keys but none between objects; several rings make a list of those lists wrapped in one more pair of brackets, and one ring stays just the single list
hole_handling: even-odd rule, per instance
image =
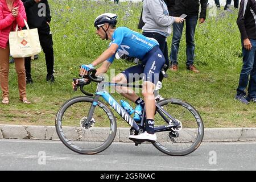
[{"label": "pale concrete curb between the grass and the road", "polygon": [[[74,127],[72,138],[79,136],[79,130]],[[98,137],[92,135],[93,139],[99,140],[108,134],[105,128],[98,128]],[[115,136],[115,142],[131,142],[129,140],[129,128],[119,127]],[[32,126],[32,125],[0,125],[0,139],[37,139],[37,140],[59,140],[55,126]],[[232,142],[232,141],[256,141],[256,128],[213,128],[205,129],[203,142]]]}]

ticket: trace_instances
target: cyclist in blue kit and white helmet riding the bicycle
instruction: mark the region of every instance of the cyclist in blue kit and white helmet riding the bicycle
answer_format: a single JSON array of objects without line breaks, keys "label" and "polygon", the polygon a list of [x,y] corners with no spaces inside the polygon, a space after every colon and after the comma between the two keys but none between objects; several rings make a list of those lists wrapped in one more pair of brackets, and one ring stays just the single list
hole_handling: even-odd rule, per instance
[{"label": "cyclist in blue kit and white helmet riding the bicycle", "polygon": [[[182,20],[182,19],[180,19]],[[165,63],[162,51],[159,49],[159,44],[155,39],[147,38],[146,36],[132,31],[127,27],[115,28],[117,24],[117,15],[112,13],[104,13],[99,15],[94,20],[96,34],[102,40],[110,40],[108,49],[106,49],[96,60],[89,65],[82,65],[80,75],[86,75],[89,69],[101,64],[97,69],[96,75],[106,73],[108,68],[113,63],[115,53],[117,51],[125,53],[130,57],[138,57],[142,63],[125,69],[113,78],[113,82],[127,84],[137,81],[136,78],[130,79],[131,74],[143,74],[142,95],[144,100],[140,98],[133,90],[126,87],[116,87],[117,92],[121,93],[130,101],[141,105],[146,109],[146,131],[139,135],[130,135],[130,139],[147,140],[149,142],[156,141],[154,133],[154,114],[155,114],[155,84],[158,82],[158,76],[161,68]],[[75,86],[75,83],[73,83]]]}]

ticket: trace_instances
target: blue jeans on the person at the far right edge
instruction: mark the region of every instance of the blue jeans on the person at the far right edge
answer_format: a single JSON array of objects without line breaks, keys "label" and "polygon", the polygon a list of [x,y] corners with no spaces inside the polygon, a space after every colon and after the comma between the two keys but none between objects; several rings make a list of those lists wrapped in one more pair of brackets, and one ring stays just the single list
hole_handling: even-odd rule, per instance
[{"label": "blue jeans on the person at the far right edge", "polygon": [[237,95],[243,94],[245,96],[245,89],[249,81],[247,95],[247,98],[249,99],[256,98],[256,40],[250,39],[250,42],[252,46],[250,51],[247,51],[244,47],[242,47],[243,66],[237,88]]}]

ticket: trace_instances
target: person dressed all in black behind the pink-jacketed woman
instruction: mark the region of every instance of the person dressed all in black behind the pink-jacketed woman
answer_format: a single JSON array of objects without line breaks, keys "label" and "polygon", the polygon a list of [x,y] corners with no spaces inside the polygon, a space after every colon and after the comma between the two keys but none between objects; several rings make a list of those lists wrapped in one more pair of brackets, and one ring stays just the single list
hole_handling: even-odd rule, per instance
[{"label": "person dressed all in black behind the pink-jacketed woman", "polygon": [[[22,0],[27,13],[27,23],[30,28],[38,28],[40,44],[46,56],[47,76],[46,80],[55,81],[53,76],[53,42],[52,33],[49,27],[51,15],[47,0]],[[39,4],[40,3],[40,4]],[[43,10],[43,13],[42,13]],[[45,11],[45,12],[44,12]],[[33,82],[31,76],[31,57],[25,57],[26,81],[27,84]]]}]

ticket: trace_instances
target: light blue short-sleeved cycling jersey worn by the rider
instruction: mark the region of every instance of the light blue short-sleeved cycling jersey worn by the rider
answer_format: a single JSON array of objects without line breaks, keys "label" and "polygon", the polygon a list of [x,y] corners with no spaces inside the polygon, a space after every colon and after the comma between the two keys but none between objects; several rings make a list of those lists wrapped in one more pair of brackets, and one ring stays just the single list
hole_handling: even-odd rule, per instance
[{"label": "light blue short-sleeved cycling jersey worn by the rider", "polygon": [[[155,39],[147,38],[127,27],[118,27],[114,31],[112,42],[109,43],[109,46],[111,44],[118,45],[118,52],[124,53],[129,57],[137,57],[138,59],[143,59],[147,52],[154,46],[159,45]],[[113,63],[114,58],[115,55],[111,56],[108,61]]]}]

